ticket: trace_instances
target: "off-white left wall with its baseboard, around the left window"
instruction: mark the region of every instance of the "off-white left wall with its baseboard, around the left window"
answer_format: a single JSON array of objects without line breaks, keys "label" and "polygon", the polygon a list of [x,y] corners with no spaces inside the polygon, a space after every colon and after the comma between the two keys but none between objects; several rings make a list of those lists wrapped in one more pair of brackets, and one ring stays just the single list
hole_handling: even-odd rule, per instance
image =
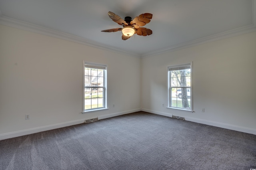
[{"label": "off-white left wall with its baseboard, around the left window", "polygon": [[[108,65],[106,111],[81,113],[83,60]],[[136,57],[0,25],[0,140],[140,111],[138,84]]]}]

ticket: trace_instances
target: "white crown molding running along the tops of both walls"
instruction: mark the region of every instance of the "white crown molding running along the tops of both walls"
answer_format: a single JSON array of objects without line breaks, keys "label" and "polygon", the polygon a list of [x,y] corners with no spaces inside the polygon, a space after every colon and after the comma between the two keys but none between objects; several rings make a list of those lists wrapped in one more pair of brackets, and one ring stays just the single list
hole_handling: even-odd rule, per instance
[{"label": "white crown molding running along the tops of both walls", "polygon": [[170,47],[166,47],[163,49],[159,49],[159,50],[155,50],[149,53],[143,53],[142,55],[138,54],[138,53],[132,53],[132,52],[128,52],[128,51],[123,51],[114,47],[110,47],[108,45],[104,45],[98,42],[94,42],[92,40],[87,40],[85,38],[81,38],[78,36],[73,36],[70,34],[66,34],[63,32],[58,32],[55,30],[51,30],[49,28],[44,28],[41,26],[37,26],[34,24],[30,24],[27,22],[22,22],[19,20],[15,20],[12,18],[8,18],[5,16],[2,16],[1,11],[0,11],[0,24],[2,25],[6,25],[6,26],[11,26],[14,28],[18,28],[21,30],[26,30],[26,31],[30,31],[30,32],[34,32],[34,33],[38,33],[38,34],[42,34],[42,35],[46,35],[46,36],[51,36],[54,38],[58,38],[58,39],[62,39],[62,40],[67,40],[70,42],[75,42],[75,43],[80,43],[83,45],[87,45],[90,47],[95,47],[98,49],[103,49],[106,51],[112,51],[115,53],[120,53],[120,54],[126,54],[132,57],[137,57],[137,58],[145,58],[145,57],[150,57],[150,56],[154,56],[154,55],[160,55],[162,53],[168,53],[171,51],[176,51],[176,50],[180,50],[180,49],[184,49],[184,48],[188,48],[188,47],[193,47],[196,45],[201,45],[203,43],[208,43],[208,42],[214,42],[217,40],[222,40],[225,38],[231,38],[234,36],[239,36],[242,34],[246,34],[246,33],[250,33],[250,32],[254,32],[256,31],[256,0],[252,0],[252,24],[248,25],[248,26],[244,26],[241,28],[236,28],[234,30],[229,30],[226,32],[222,32],[219,34],[215,34],[212,36],[207,36],[204,38],[200,38],[197,40],[192,40],[189,42],[184,42],[184,43],[180,43],[178,45],[172,45]]}]

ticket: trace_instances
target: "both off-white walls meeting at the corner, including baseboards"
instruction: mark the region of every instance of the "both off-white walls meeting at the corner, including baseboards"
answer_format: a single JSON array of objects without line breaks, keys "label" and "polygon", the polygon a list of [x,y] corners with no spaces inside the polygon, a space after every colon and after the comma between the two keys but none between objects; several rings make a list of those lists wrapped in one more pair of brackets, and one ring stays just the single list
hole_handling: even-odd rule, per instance
[{"label": "both off-white walls meeting at the corner, including baseboards", "polygon": [[[141,108],[256,134],[255,44],[253,32],[138,59],[0,25],[0,140]],[[83,60],[108,65],[106,111],[81,113]],[[162,107],[167,67],[191,61],[195,112]]]}]

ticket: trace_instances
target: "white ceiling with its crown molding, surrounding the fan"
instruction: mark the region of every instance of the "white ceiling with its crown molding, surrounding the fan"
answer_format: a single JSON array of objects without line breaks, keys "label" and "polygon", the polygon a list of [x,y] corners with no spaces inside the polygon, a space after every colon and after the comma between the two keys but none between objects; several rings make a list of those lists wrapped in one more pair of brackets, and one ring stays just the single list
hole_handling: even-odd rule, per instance
[{"label": "white ceiling with its crown molding, surrounding the fan", "polygon": [[[256,31],[256,0],[0,0],[0,24],[144,57]],[[150,36],[122,40],[124,19],[153,14]]]}]

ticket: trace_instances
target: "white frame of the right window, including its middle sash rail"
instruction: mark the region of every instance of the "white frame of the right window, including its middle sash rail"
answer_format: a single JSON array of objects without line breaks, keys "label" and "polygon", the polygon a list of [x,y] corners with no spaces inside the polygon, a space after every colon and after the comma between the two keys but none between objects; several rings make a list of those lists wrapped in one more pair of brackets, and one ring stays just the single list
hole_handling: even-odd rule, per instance
[{"label": "white frame of the right window, including its middle sash rail", "polygon": [[[190,66],[190,108],[182,108],[182,107],[174,107],[172,106],[172,88],[178,88],[178,86],[172,86],[171,85],[171,71],[170,69],[177,69],[181,67],[187,67]],[[182,69],[180,69],[182,70]],[[187,63],[187,64],[181,64],[181,65],[172,65],[168,66],[168,109],[174,109],[177,111],[187,111],[187,112],[194,112],[193,111],[193,62]],[[187,86],[182,86],[184,88],[188,88]],[[178,98],[178,96],[176,96]]]}]

